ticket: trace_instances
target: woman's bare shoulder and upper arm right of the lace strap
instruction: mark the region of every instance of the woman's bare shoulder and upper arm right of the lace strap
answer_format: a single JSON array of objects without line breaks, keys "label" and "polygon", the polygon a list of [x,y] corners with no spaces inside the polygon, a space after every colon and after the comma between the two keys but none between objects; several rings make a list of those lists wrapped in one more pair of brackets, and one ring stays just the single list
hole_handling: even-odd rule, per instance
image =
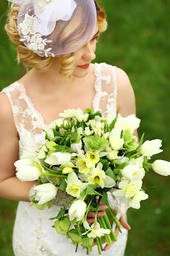
[{"label": "woman's bare shoulder and upper arm right of the lace strap", "polygon": [[133,87],[127,73],[116,67],[117,80],[117,113],[122,116],[136,114],[136,102]]}]

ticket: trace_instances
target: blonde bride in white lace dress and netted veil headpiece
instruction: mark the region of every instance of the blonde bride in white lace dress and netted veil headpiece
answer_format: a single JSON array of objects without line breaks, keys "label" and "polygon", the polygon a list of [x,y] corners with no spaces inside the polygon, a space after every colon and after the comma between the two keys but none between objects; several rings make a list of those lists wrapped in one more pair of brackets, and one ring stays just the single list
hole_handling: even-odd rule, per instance
[{"label": "blonde bride in white lace dress and netted veil headpiece", "polygon": [[[50,209],[40,211],[29,206],[36,181],[17,179],[14,162],[26,154],[24,147],[31,145],[34,134],[64,109],[93,108],[112,118],[116,113],[135,114],[133,89],[120,68],[91,63],[96,58],[97,38],[107,28],[105,10],[96,0],[65,0],[67,4],[60,0],[9,1],[13,3],[9,4],[5,29],[17,44],[18,62],[27,69],[23,77],[0,93],[0,197],[19,201],[13,230],[14,255],[82,256],[85,250],[79,248],[75,253],[71,241],[55,232],[49,220],[65,204],[65,195],[57,193]],[[108,199],[116,211],[111,194]],[[99,210],[106,207],[100,205]],[[125,205],[120,207],[122,233],[116,228],[118,241],[105,245],[106,256],[125,253],[130,226]],[[99,212],[97,216],[102,215]],[[94,212],[88,212],[87,221],[94,222]],[[97,246],[91,255],[98,255]]]}]

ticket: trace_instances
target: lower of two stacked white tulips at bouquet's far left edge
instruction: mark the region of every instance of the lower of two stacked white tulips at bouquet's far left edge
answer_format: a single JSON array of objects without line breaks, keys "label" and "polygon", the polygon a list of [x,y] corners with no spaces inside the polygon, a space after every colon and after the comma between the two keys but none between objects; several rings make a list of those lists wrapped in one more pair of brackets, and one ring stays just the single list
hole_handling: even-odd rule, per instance
[{"label": "lower of two stacked white tulips at bouquet's far left edge", "polygon": [[34,166],[20,166],[16,171],[16,176],[21,181],[37,180],[41,175],[40,170]]}]

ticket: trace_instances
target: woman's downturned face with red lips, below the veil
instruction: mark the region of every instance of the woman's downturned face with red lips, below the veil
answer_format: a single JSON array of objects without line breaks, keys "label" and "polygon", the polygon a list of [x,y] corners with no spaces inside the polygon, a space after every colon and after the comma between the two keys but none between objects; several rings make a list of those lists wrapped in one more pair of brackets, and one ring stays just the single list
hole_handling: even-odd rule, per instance
[{"label": "woman's downturned face with red lips, below the veil", "polygon": [[[82,48],[78,49],[74,52],[75,54],[75,69],[73,72],[73,76],[77,78],[82,78],[88,74],[89,71],[89,63],[96,58],[95,50],[96,50],[96,39],[99,37],[99,29],[98,25],[96,25],[96,29],[94,32],[94,36],[91,40],[88,41]],[[85,67],[81,67],[82,65],[87,64]]]}]

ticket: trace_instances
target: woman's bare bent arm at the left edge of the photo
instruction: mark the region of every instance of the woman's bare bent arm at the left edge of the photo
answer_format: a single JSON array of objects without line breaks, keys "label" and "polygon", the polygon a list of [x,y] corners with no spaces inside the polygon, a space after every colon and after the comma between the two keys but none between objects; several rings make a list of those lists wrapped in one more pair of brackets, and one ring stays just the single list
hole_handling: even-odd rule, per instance
[{"label": "woman's bare bent arm at the left edge of the photo", "polygon": [[[4,107],[5,106],[5,107]],[[11,105],[6,94],[0,94],[0,198],[29,201],[36,181],[22,182],[15,176],[18,159],[18,135]]]}]

